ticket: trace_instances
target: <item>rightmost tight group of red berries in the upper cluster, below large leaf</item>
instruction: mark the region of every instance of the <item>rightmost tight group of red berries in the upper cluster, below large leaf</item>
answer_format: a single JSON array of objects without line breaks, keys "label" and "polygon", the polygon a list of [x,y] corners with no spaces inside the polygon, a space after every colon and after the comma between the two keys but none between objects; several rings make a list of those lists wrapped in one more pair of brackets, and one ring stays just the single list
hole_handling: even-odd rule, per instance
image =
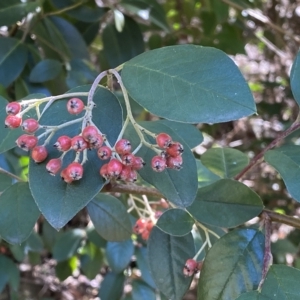
[{"label": "rightmost tight group of red berries in the upper cluster, below large leaf", "polygon": [[173,142],[166,133],[156,136],[158,147],[163,149],[160,155],[156,155],[151,160],[151,167],[156,172],[162,172],[165,168],[180,170],[182,167],[183,146],[178,142]]}]

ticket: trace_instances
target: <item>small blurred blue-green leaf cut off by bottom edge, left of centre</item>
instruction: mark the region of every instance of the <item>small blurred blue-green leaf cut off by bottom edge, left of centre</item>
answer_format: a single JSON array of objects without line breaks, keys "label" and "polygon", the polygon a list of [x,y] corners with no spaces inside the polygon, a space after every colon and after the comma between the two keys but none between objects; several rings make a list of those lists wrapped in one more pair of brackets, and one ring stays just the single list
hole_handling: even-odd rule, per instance
[{"label": "small blurred blue-green leaf cut off by bottom edge, left of centre", "polygon": [[101,300],[120,300],[123,293],[123,285],[125,281],[124,274],[115,274],[109,272],[105,275],[99,289],[99,297]]}]

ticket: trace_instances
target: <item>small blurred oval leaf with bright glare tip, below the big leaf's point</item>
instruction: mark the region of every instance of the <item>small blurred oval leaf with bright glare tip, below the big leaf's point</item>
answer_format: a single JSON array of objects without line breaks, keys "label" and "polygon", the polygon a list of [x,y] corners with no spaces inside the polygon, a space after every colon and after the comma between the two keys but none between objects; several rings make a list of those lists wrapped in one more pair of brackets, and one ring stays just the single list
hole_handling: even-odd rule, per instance
[{"label": "small blurred oval leaf with bright glare tip, below the big leaf's point", "polygon": [[85,237],[85,231],[79,228],[63,232],[53,246],[53,258],[58,262],[71,258]]}]

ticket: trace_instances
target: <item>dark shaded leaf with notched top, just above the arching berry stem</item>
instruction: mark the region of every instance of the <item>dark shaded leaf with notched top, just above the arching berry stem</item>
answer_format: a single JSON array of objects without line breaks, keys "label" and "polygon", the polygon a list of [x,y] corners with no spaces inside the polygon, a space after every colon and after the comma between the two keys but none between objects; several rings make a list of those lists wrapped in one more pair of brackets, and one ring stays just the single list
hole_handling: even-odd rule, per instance
[{"label": "dark shaded leaf with notched top, just above the arching berry stem", "polygon": [[122,32],[114,24],[103,30],[103,51],[111,68],[144,52],[144,40],[139,25],[131,18],[125,18]]}]

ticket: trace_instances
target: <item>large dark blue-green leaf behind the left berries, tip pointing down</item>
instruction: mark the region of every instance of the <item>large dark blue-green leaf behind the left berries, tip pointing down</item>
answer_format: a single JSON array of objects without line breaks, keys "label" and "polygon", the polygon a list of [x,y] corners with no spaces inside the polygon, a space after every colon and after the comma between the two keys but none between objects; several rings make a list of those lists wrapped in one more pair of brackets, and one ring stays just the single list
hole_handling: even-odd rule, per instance
[{"label": "large dark blue-green leaf behind the left berries, tip pointing down", "polygon": [[[87,92],[89,89],[90,86],[82,86],[69,92]],[[86,97],[81,97],[81,99],[86,101]],[[42,115],[40,124],[54,126],[77,118],[78,116],[74,117],[67,112],[67,100],[55,101]],[[95,93],[94,101],[97,106],[93,110],[93,122],[102,133],[106,134],[110,144],[114,145],[122,128],[122,110],[118,99],[109,90],[100,87]],[[73,137],[80,130],[80,123],[58,130],[47,147],[48,159],[40,164],[30,160],[29,164],[29,183],[32,195],[42,214],[56,229],[63,227],[80,209],[85,207],[104,185],[104,181],[99,175],[99,169],[104,161],[100,161],[96,151],[88,151],[88,161],[84,164],[84,176],[72,184],[63,182],[59,175],[50,176],[45,169],[51,158],[60,156],[59,151],[52,147],[57,138],[61,135]],[[43,140],[40,143],[43,143]],[[75,153],[68,152],[63,160],[63,168],[71,163],[74,157]]]}]

